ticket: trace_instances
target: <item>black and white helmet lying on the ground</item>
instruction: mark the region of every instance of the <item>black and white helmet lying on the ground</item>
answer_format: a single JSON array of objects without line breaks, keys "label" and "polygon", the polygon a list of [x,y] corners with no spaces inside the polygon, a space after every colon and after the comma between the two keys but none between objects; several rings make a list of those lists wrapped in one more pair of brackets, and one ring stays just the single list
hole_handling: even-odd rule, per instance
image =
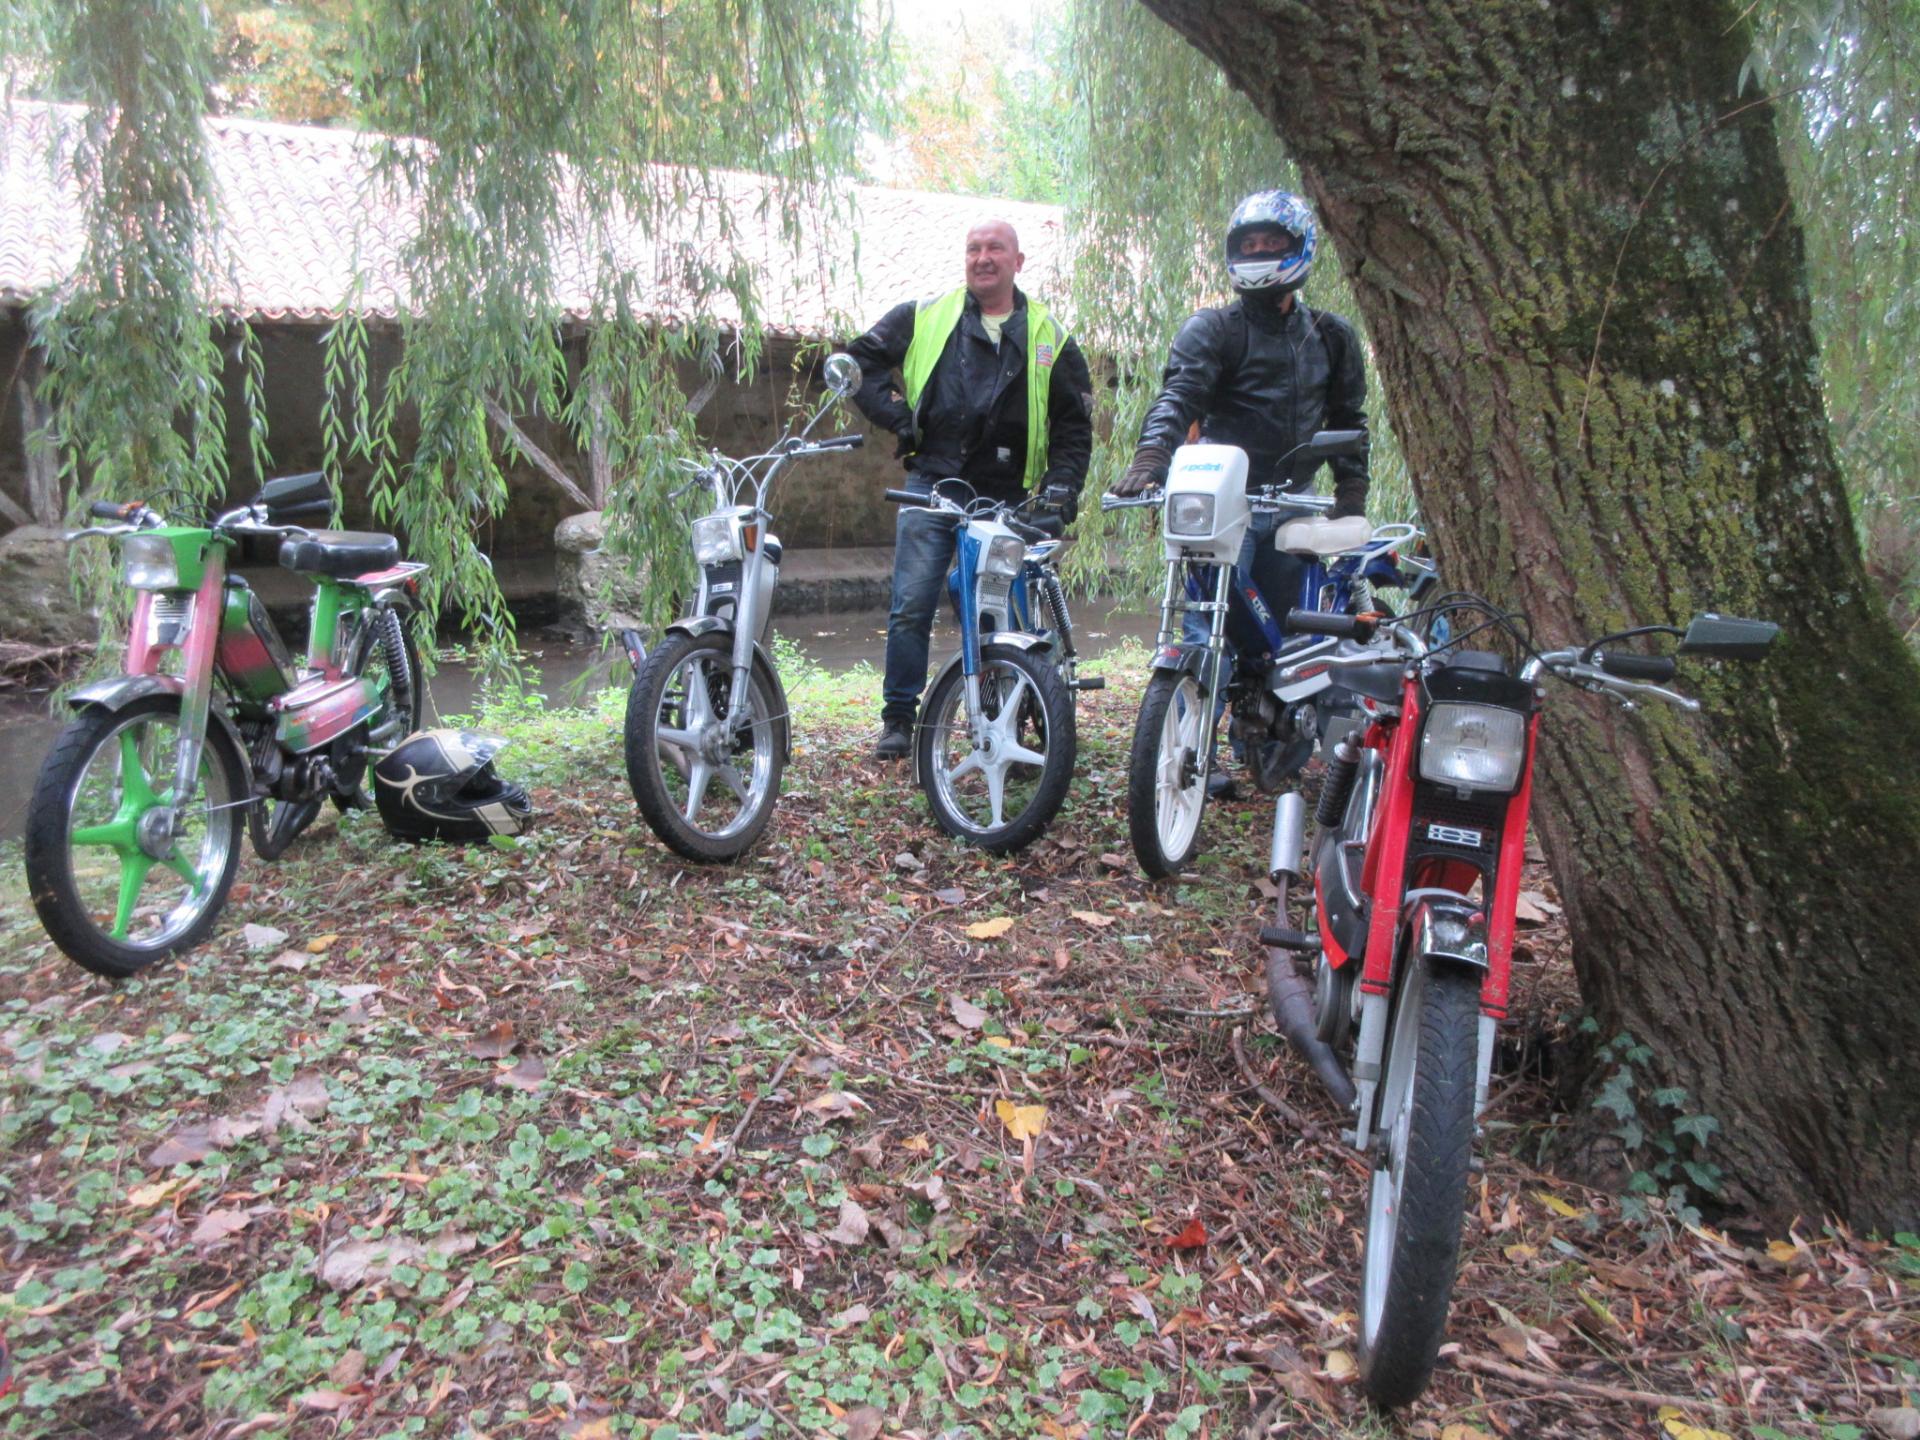
[{"label": "black and white helmet lying on the ground", "polygon": [[476,841],[518,835],[534,814],[526,791],[501,780],[507,741],[474,730],[419,730],[372,768],[374,803],[394,839]]}]

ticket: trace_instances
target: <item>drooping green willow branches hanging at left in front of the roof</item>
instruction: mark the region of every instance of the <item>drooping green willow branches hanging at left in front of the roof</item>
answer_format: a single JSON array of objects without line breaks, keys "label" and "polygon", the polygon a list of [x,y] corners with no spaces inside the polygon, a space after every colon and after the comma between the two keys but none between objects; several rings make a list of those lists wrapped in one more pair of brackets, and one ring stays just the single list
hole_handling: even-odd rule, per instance
[{"label": "drooping green willow branches hanging at left in front of the roof", "polygon": [[[622,480],[611,509],[628,543],[674,524],[664,476],[691,440],[676,361],[747,372],[758,359],[739,227],[772,223],[795,255],[828,253],[822,238],[845,204],[835,180],[852,169],[866,125],[874,36],[858,0],[684,0],[645,13],[624,0],[501,0],[430,12],[357,0],[342,33],[332,0],[223,8],[228,29],[194,0],[13,0],[8,71],[29,94],[84,106],[73,167],[86,250],[36,305],[35,330],[73,503],[221,495],[223,359],[204,269],[215,196],[202,119],[223,84],[232,104],[332,94],[332,79],[296,77],[332,77],[324,58],[344,54],[355,121],[399,136],[378,148],[376,184],[417,209],[419,228],[403,257],[401,359],[380,394],[359,298],[340,298],[346,319],[326,355],[328,470],[338,476],[349,459],[372,467],[376,515],[432,564],[428,611],[455,599],[468,622],[511,637],[474,547],[507,495],[488,401],[561,417],[582,451],[605,457]],[[240,54],[230,36],[244,25],[253,38]],[[305,58],[294,42],[267,42],[307,33]],[[718,167],[768,177],[772,215],[735,215]],[[720,236],[716,252],[687,244],[689,217]],[[641,275],[616,261],[636,232],[655,244]],[[578,363],[563,349],[557,234],[597,261]],[[685,298],[674,326],[641,319],[662,286]],[[741,323],[724,342],[714,317],[728,311]],[[242,346],[250,440],[265,468],[259,351],[252,336]],[[401,453],[407,413],[419,438]],[[655,566],[657,597],[672,584]]]}]

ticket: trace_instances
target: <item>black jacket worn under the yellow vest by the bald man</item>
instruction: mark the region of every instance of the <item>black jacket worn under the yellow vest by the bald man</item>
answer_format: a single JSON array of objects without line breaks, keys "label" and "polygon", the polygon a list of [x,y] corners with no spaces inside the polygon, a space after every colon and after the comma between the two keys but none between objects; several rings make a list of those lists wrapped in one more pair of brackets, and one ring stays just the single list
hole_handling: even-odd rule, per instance
[{"label": "black jacket worn under the yellow vest by the bald man", "polygon": [[[991,499],[1020,499],[1027,470],[1027,298],[1014,292],[1014,313],[1000,326],[995,349],[979,321],[979,303],[968,296],[966,313],[920,397],[918,449],[914,413],[895,378],[914,340],[914,313],[912,300],[895,305],[847,346],[864,376],[854,405],[902,438],[908,472],[935,480],[958,476]],[[1092,380],[1071,336],[1054,357],[1046,422],[1046,472],[1035,490],[1068,486],[1079,493],[1092,457]]]}]

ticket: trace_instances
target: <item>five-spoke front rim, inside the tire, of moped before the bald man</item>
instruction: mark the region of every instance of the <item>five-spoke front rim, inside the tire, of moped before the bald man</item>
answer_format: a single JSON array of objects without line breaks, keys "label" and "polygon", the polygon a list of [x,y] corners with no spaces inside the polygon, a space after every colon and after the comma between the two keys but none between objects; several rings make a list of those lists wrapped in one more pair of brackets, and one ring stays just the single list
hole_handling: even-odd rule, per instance
[{"label": "five-spoke front rim, inside the tire, of moped before the bald man", "polygon": [[954,822],[973,835],[1002,829],[1027,812],[1046,774],[1046,707],[1033,678],[1014,662],[981,657],[981,733],[960,682],[947,691],[933,726],[933,785]]}]

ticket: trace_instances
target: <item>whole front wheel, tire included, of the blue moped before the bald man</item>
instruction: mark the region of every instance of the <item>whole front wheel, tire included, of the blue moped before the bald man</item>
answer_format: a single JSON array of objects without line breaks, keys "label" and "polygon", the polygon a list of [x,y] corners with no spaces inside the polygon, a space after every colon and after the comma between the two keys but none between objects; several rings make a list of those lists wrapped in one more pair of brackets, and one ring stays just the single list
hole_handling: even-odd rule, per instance
[{"label": "whole front wheel, tire included, of the blue moped before the bald man", "polygon": [[958,664],[933,684],[920,712],[914,764],[941,829],[993,854],[1012,854],[1052,824],[1068,797],[1077,751],[1073,701],[1052,657],[1018,645],[981,645],[979,684],[981,708],[1000,733],[995,743],[1039,756],[1039,764],[979,758]]}]

